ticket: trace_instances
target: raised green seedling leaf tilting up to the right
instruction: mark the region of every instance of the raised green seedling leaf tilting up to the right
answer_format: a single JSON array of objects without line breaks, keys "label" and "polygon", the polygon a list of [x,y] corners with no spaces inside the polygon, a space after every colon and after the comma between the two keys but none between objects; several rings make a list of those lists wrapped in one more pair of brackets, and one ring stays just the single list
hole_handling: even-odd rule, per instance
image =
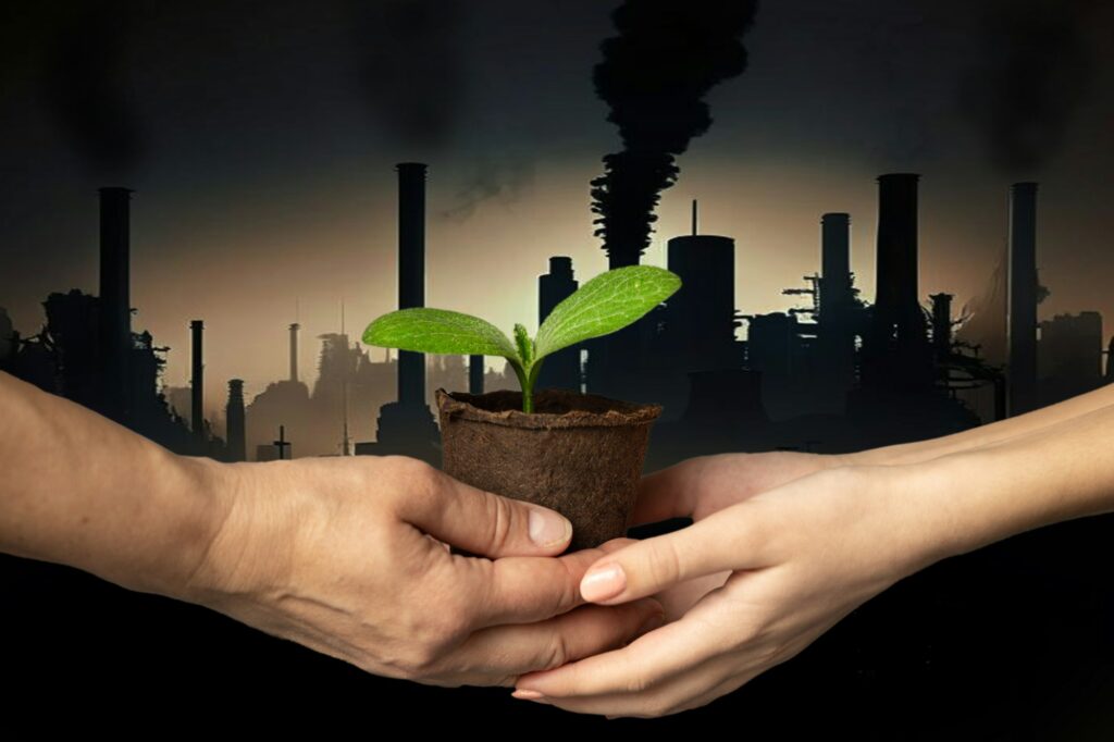
[{"label": "raised green seedling leaf tilting up to the right", "polygon": [[600,273],[549,313],[538,329],[534,359],[622,330],[680,287],[676,273],[653,265],[627,265]]}]

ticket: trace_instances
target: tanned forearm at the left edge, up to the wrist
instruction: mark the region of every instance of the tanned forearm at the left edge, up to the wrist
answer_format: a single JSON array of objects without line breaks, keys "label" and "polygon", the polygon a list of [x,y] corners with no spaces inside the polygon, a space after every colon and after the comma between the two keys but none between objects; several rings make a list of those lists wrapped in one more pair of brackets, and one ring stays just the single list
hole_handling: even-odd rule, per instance
[{"label": "tanned forearm at the left edge, up to the wrist", "polygon": [[0,550],[172,594],[219,525],[215,461],[0,372]]}]

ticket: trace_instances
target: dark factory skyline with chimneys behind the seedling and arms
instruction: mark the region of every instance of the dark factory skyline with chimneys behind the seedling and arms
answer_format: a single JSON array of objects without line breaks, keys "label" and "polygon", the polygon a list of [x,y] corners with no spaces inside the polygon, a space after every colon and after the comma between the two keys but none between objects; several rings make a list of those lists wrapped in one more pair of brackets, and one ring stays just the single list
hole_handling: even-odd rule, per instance
[{"label": "dark factory skyline with chimneys behind the seedling and arms", "polygon": [[[426,182],[421,163],[398,172],[398,306],[424,306]],[[1037,321],[1037,184],[1017,183],[1006,209],[1007,271],[1000,318],[1003,358],[965,338],[952,295],[922,305],[918,287],[919,175],[878,178],[873,301],[856,286],[851,215],[820,216],[820,272],[786,289],[805,306],[744,314],[734,292],[735,244],[698,232],[667,241],[666,267],[682,289],[633,325],[547,358],[538,388],[560,387],[634,401],[664,413],[648,467],[727,450],[839,452],[947,435],[1019,414],[1114,381],[1103,363],[1097,312]],[[485,358],[383,352],[372,360],[340,332],[320,335],[317,378],[300,374],[301,326],[290,324],[287,378],[245,400],[228,379],[224,435],[205,419],[203,320],[190,321],[188,388],[160,382],[166,348],[134,332],[129,304],[128,188],[100,189],[100,293],[52,293],[46,323],[22,336],[0,311],[0,369],[62,394],[183,453],[222,460],[306,455],[403,453],[440,462],[432,390],[516,389]],[[610,267],[639,251],[612,254]],[[538,322],[576,291],[573,261],[549,257],[538,279]],[[958,331],[956,330],[958,325]],[[745,326],[745,340],[736,329]],[[993,332],[990,333],[994,334]],[[993,338],[987,342],[993,343]],[[1000,343],[999,343],[1000,344]],[[1114,344],[1114,343],[1112,343]],[[381,350],[381,349],[380,349]],[[379,354],[379,353],[377,353]]]}]

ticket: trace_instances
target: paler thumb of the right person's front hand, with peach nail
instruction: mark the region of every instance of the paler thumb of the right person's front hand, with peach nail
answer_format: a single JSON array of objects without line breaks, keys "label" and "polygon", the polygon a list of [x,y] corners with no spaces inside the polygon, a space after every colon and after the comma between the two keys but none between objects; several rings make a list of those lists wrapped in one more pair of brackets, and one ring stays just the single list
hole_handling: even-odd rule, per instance
[{"label": "paler thumb of the right person's front hand, with peach nail", "polygon": [[768,566],[761,558],[761,525],[746,505],[599,558],[580,580],[580,594],[589,603],[615,605],[696,577]]}]

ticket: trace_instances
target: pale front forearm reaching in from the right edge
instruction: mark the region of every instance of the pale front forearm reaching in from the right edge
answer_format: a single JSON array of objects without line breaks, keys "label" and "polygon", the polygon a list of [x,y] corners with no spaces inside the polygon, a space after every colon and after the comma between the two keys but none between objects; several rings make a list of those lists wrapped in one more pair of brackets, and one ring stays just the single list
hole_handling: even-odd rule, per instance
[{"label": "pale front forearm reaching in from the right edge", "polygon": [[915,463],[908,471],[908,523],[925,535],[929,562],[1108,512],[1114,510],[1114,407]]}]

